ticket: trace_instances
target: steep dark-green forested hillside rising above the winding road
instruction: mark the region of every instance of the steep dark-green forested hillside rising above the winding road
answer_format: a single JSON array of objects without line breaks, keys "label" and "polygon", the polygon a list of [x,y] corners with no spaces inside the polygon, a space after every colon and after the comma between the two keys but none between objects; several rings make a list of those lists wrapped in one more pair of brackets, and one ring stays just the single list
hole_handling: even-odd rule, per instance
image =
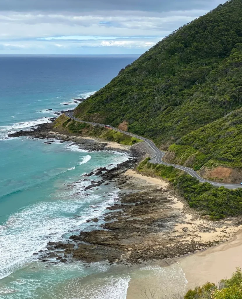
[{"label": "steep dark-green forested hillside rising above the winding road", "polygon": [[[192,163],[199,169],[211,158],[241,166],[239,152],[221,148],[223,138],[226,143],[228,134],[233,138],[229,128],[212,141],[214,147],[212,137],[197,142],[200,131],[195,131],[209,129],[207,124],[240,107],[242,0],[232,0],[152,47],[81,103],[75,115],[113,126],[127,121],[130,132],[153,139],[163,149],[175,143],[188,146],[192,153],[201,148]],[[218,123],[216,130],[221,127]],[[238,126],[236,134],[237,140],[242,138]]]}]

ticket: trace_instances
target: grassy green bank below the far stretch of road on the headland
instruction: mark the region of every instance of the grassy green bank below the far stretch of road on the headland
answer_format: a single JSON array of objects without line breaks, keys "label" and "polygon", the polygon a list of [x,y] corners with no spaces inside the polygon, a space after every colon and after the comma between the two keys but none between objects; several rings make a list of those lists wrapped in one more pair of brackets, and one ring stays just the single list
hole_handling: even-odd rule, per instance
[{"label": "grassy green bank below the far stretch of road on the headland", "polygon": [[132,145],[137,142],[141,142],[141,140],[138,138],[125,135],[115,130],[107,129],[101,126],[92,126],[88,123],[80,123],[68,118],[64,114],[57,118],[53,125],[56,129],[66,129],[76,135],[98,137],[107,141],[117,142],[125,145]]}]

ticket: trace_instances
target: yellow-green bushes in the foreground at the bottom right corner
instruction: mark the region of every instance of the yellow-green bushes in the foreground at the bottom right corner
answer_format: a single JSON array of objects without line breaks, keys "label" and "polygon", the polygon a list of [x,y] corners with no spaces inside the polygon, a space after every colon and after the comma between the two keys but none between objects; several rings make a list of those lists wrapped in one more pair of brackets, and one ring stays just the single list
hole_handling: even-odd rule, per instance
[{"label": "yellow-green bushes in the foreground at the bottom right corner", "polygon": [[230,279],[223,279],[218,286],[206,283],[202,287],[189,290],[184,299],[242,299],[242,272],[237,271]]}]

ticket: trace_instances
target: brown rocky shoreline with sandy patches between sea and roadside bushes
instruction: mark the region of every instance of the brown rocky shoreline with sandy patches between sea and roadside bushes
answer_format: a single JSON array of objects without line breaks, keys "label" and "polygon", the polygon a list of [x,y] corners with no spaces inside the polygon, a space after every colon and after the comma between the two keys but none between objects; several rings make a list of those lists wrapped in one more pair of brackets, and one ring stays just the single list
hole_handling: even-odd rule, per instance
[{"label": "brown rocky shoreline with sandy patches between sea and roadside bushes", "polygon": [[[71,141],[89,151],[107,149],[106,142],[64,135],[53,131],[49,123],[10,136],[48,139],[47,144],[56,139]],[[217,222],[201,219],[167,182],[161,178],[154,182],[151,177],[135,173],[138,163],[152,154],[145,143],[115,150],[134,158],[111,169],[93,170],[73,185],[90,181],[83,190],[93,190],[110,184],[120,190],[117,202],[108,206],[102,216],[87,220],[90,225],[95,224],[93,230],[80,231],[65,242],[48,242],[46,248],[34,253],[39,260],[130,265],[174,259],[227,241],[242,228],[240,217]]]}]

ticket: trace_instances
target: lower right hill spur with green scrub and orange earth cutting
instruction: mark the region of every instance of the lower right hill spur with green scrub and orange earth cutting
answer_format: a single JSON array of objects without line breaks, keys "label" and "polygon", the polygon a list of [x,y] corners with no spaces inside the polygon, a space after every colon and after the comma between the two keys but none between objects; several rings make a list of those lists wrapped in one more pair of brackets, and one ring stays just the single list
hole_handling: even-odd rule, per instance
[{"label": "lower right hill spur with green scrub and orange earth cutting", "polygon": [[241,157],[242,108],[186,134],[169,147],[164,160],[200,170],[207,179],[240,183]]}]

